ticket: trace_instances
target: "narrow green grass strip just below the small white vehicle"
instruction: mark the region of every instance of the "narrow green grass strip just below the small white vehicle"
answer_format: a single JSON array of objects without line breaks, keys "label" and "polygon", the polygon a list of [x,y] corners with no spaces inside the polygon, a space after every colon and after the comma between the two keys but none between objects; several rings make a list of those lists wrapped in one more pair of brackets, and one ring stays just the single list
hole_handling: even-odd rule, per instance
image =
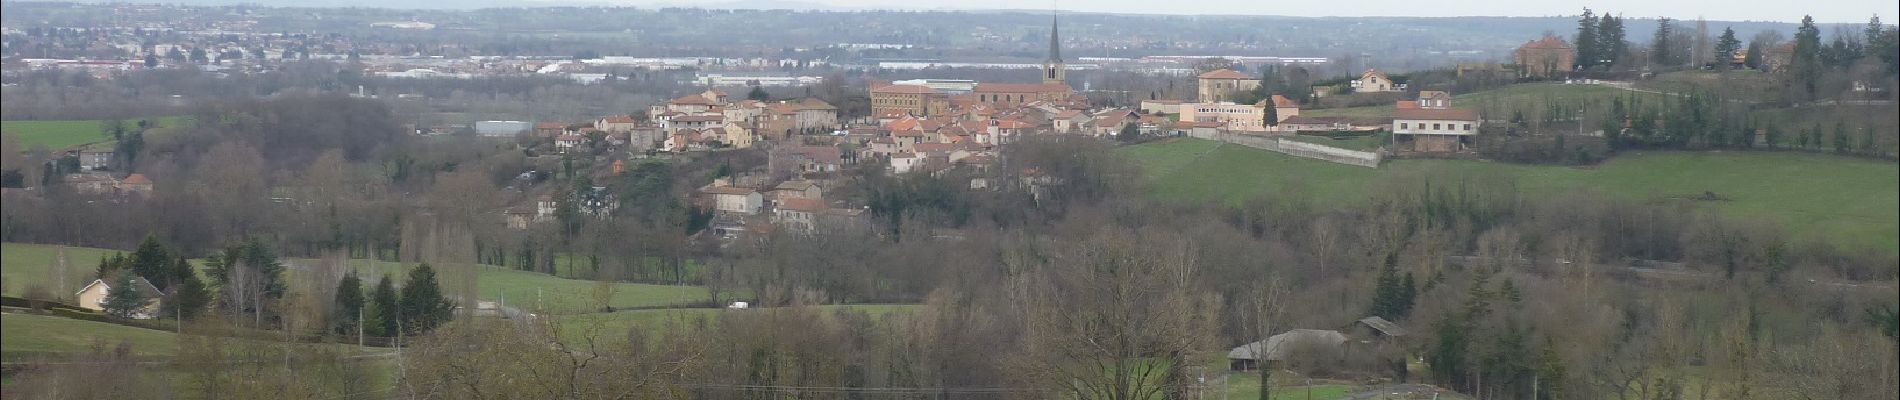
[{"label": "narrow green grass strip just below the small white vehicle", "polygon": [[[821,311],[863,311],[872,317],[884,317],[889,313],[914,313],[923,305],[817,305]],[[785,309],[638,309],[638,311],[619,311],[619,313],[595,313],[595,315],[560,315],[555,322],[560,328],[564,341],[576,341],[585,337],[589,332],[598,332],[600,337],[625,337],[629,330],[640,326],[642,330],[656,330],[663,324],[699,324],[709,322],[720,313],[775,313]]]}]

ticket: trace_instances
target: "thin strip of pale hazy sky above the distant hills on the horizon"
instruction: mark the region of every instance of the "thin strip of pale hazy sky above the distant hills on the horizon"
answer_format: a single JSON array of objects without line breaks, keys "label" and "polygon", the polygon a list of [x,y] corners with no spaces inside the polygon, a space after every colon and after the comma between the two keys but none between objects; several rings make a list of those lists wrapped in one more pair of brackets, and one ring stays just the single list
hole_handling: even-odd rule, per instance
[{"label": "thin strip of pale hazy sky above the distant hills on the horizon", "polygon": [[[532,0],[530,0],[532,2]],[[699,4],[720,8],[720,4],[823,4],[832,8],[904,8],[904,9],[1045,9],[1049,0],[597,0],[623,6],[688,6]],[[1894,0],[1066,0],[1054,4],[1060,9],[1110,11],[1110,13],[1243,13],[1243,15],[1296,15],[1296,17],[1463,17],[1463,15],[1507,15],[1507,17],[1548,17],[1575,15],[1585,6],[1624,17],[1674,17],[1712,21],[1782,21],[1796,23],[1801,15],[1814,15],[1818,23],[1866,23],[1881,13],[1885,23],[1894,17]]]}]

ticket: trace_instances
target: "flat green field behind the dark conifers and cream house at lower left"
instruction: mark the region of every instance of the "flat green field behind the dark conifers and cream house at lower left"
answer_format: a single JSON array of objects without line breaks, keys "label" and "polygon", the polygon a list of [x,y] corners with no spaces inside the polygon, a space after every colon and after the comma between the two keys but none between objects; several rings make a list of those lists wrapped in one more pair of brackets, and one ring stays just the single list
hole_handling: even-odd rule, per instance
[{"label": "flat green field behind the dark conifers and cream house at lower left", "polygon": [[[57,254],[55,248],[57,246],[51,245],[0,243],[0,258],[4,258],[4,267],[0,267],[0,284],[6,286],[6,294],[19,294],[28,284],[46,284],[48,288],[57,286],[53,277],[48,277],[53,269],[53,254]],[[78,290],[78,284],[89,282],[93,269],[99,265],[99,258],[108,254],[112,254],[112,250],[68,246],[66,258],[70,260],[70,267],[66,269],[66,286],[74,288],[65,292],[70,294],[72,290]],[[291,262],[300,265],[315,264],[315,260]],[[353,264],[359,271],[365,271],[365,277],[369,277],[365,279],[365,284],[374,284],[374,277],[380,277],[382,273],[403,271],[403,265],[393,262],[355,260]],[[294,273],[296,269],[293,267],[291,271]],[[401,284],[401,279],[397,279],[397,284]],[[448,286],[450,282],[445,281],[443,284]],[[477,298],[505,300],[509,307],[534,309],[536,301],[540,301],[549,313],[576,313],[593,305],[597,282],[484,265],[477,277],[477,286],[481,290],[481,296]],[[614,307],[654,307],[705,301],[711,298],[711,292],[701,286],[618,282],[614,288],[616,292],[610,301]]]}]

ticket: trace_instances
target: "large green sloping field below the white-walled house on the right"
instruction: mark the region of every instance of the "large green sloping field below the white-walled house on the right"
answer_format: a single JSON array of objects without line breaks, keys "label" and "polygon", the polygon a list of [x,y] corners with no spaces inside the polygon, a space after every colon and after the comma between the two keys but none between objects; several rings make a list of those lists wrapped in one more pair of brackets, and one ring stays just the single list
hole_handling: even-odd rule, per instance
[{"label": "large green sloping field below the white-walled house on the right", "polygon": [[1585,190],[1678,201],[1714,191],[1729,201],[1699,205],[1731,216],[1775,218],[1805,239],[1900,248],[1900,165],[1890,161],[1792,152],[1632,152],[1594,167],[1396,159],[1374,171],[1195,138],[1123,152],[1144,165],[1150,190],[1163,199],[1233,203],[1286,191],[1320,205],[1351,205],[1364,199],[1379,176],[1433,169],[1512,176],[1533,197]]}]

